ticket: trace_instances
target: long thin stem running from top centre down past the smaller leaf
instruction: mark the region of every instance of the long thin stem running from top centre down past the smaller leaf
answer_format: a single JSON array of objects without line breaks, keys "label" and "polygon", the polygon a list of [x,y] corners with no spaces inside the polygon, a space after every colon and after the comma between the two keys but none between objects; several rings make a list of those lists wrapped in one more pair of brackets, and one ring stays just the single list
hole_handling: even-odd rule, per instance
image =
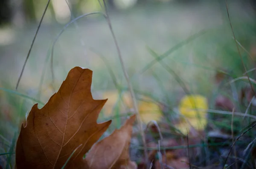
[{"label": "long thin stem running from top centre down past the smaller leaf", "polygon": [[146,164],[147,164],[147,168],[148,168],[149,164],[148,164],[147,144],[146,144],[145,135],[144,135],[144,132],[143,132],[143,123],[142,123],[142,120],[140,118],[139,109],[138,109],[138,106],[137,106],[137,100],[136,100],[135,93],[134,93],[133,87],[131,85],[131,82],[129,80],[128,73],[126,72],[126,69],[125,69],[124,61],[122,59],[122,55],[121,55],[120,48],[119,48],[119,45],[118,45],[117,40],[116,40],[116,36],[115,36],[115,34],[113,32],[113,29],[112,29],[111,21],[109,19],[109,15],[108,15],[108,9],[107,9],[107,5],[106,5],[106,1],[103,0],[103,3],[104,3],[104,7],[105,7],[106,16],[107,16],[106,19],[107,19],[107,22],[108,22],[108,26],[109,26],[109,29],[110,29],[111,34],[113,36],[114,43],[116,45],[118,57],[119,57],[119,60],[120,60],[121,66],[122,66],[122,71],[124,73],[125,80],[126,80],[126,82],[128,84],[128,88],[129,88],[129,91],[131,93],[131,98],[132,98],[132,101],[133,101],[133,106],[134,106],[135,112],[137,114],[136,115],[137,122],[138,122],[139,127],[140,127],[140,135],[141,135],[142,141],[143,141],[145,160],[146,160]]}]

